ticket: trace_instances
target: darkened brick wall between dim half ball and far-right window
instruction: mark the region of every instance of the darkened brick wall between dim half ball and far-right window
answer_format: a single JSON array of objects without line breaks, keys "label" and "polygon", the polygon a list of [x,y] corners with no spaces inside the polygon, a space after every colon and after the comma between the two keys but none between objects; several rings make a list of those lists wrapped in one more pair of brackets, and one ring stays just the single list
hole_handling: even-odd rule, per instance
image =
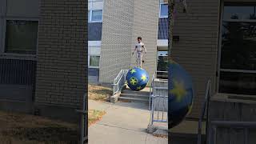
[{"label": "darkened brick wall between dim half ball and far-right window", "polygon": [[[214,90],[218,59],[218,15],[216,0],[190,0],[188,14],[178,14],[174,35],[180,37],[171,49],[172,57],[183,66],[194,81],[194,107],[189,117],[198,118],[204,100],[206,81],[211,78]],[[179,5],[177,5],[178,7]]]}]

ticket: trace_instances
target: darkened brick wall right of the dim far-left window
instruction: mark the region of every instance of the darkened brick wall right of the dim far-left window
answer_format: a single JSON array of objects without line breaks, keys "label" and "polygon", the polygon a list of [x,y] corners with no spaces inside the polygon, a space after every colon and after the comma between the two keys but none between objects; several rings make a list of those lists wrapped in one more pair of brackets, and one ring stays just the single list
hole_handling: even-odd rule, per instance
[{"label": "darkened brick wall right of the dim far-left window", "polygon": [[86,14],[84,0],[41,0],[36,105],[82,106],[87,90]]}]

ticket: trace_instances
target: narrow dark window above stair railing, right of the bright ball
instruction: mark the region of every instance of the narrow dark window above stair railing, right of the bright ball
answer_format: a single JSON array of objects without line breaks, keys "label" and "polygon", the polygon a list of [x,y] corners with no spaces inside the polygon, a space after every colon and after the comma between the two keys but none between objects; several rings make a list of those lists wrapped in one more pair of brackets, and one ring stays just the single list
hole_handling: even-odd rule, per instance
[{"label": "narrow dark window above stair railing, right of the bright ball", "polygon": [[168,51],[158,51],[158,78],[167,78],[168,73]]}]

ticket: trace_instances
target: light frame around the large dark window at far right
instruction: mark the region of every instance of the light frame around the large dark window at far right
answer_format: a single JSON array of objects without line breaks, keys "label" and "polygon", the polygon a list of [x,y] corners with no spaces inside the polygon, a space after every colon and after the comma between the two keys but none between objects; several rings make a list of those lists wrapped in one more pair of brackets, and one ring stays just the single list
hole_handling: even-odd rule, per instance
[{"label": "light frame around the large dark window at far right", "polygon": [[[238,95],[238,96],[254,96],[254,95],[248,95],[248,94],[230,94],[230,93],[223,93],[220,92],[220,75],[221,72],[234,72],[234,73],[246,73],[246,74],[256,74],[256,70],[237,70],[237,69],[223,69],[221,68],[221,58],[222,58],[222,25],[223,22],[256,22],[256,19],[224,19],[224,7],[225,4],[227,5],[234,5],[234,6],[245,6],[244,3],[241,2],[221,2],[220,6],[220,15],[219,15],[219,32],[218,32],[218,67],[217,67],[217,83],[216,83],[216,90],[218,94],[229,94],[229,95]],[[248,2],[248,4],[252,4],[251,2]],[[256,3],[254,2],[254,5],[256,6]]]}]

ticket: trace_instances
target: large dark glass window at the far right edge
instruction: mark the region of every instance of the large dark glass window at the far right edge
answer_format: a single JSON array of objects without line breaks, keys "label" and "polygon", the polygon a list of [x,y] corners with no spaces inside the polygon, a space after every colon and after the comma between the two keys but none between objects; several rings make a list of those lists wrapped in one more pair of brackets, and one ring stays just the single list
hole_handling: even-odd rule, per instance
[{"label": "large dark glass window at the far right edge", "polygon": [[256,5],[225,3],[219,92],[256,95]]}]

